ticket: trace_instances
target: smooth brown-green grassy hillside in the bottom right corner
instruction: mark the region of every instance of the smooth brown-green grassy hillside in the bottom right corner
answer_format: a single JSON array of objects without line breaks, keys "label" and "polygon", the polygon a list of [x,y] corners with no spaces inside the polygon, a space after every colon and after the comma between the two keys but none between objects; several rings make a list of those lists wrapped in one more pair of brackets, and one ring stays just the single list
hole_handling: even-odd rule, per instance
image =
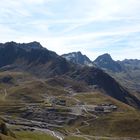
[{"label": "smooth brown-green grassy hillside in the bottom right corner", "polygon": [[89,124],[80,131],[87,135],[140,137],[140,112],[112,113]]}]

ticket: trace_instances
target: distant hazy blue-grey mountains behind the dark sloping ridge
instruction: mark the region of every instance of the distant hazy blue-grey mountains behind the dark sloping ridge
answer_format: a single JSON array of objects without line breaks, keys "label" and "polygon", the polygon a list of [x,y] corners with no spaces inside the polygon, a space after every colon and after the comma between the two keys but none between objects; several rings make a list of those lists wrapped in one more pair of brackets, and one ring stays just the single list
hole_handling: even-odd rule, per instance
[{"label": "distant hazy blue-grey mountains behind the dark sloping ridge", "polygon": [[[74,53],[76,54],[76,52]],[[67,59],[69,54],[62,55]],[[71,53],[72,59],[67,59],[75,63],[74,55]],[[82,55],[80,58],[85,58],[85,55]],[[87,56],[86,56],[87,57]],[[82,61],[83,59],[81,59]],[[83,65],[83,62],[77,64]],[[89,60],[88,63],[92,63],[93,66],[96,66],[99,69],[102,69],[110,76],[115,78],[119,83],[121,83],[125,88],[131,90],[131,92],[139,93],[140,92],[140,60],[138,59],[125,59],[123,61],[115,61],[112,59],[110,54],[103,54],[97,57],[94,61]],[[84,64],[86,65],[86,64]],[[90,66],[92,66],[90,65]],[[137,94],[139,96],[139,94]]]}]

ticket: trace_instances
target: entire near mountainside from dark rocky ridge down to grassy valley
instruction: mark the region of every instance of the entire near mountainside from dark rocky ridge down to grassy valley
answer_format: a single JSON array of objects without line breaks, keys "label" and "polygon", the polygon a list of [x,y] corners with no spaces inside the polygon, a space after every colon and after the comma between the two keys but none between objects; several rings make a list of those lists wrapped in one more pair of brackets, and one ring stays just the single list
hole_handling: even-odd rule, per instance
[{"label": "entire near mountainside from dark rocky ridge down to grassy valley", "polygon": [[140,138],[136,96],[38,42],[0,44],[0,94],[2,140]]}]

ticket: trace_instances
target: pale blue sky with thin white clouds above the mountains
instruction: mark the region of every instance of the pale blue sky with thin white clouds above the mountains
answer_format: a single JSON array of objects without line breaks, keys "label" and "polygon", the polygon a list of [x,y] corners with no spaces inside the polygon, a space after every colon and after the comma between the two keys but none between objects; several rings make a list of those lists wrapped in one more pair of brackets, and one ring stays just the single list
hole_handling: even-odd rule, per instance
[{"label": "pale blue sky with thin white clouds above the mountains", "polygon": [[0,0],[0,42],[140,59],[140,0]]}]

